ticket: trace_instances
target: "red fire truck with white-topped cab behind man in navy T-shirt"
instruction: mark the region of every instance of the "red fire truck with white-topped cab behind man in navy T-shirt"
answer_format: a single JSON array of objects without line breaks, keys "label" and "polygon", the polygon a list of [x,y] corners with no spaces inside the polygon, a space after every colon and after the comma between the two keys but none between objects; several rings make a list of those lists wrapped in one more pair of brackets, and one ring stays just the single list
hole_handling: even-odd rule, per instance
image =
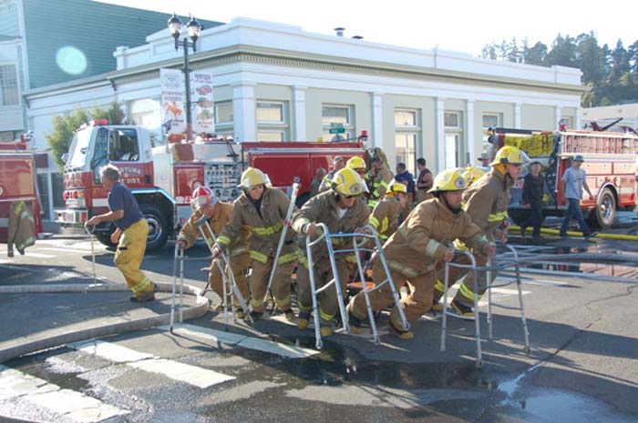
[{"label": "red fire truck with white-topped cab behind man in navy T-shirt", "polygon": [[[198,184],[208,186],[222,201],[240,196],[240,176],[246,166],[268,174],[274,187],[302,188],[297,204],[308,198],[318,167],[329,169],[334,156],[364,156],[363,139],[355,142],[235,143],[210,139],[194,144],[153,146],[149,131],[139,126],[113,126],[96,120],[80,127],[65,157],[65,209],[57,211],[64,227],[81,227],[108,211],[108,192],[101,185],[99,169],[118,166],[120,182],[129,186],[149,222],[148,249],[162,247],[175,236],[191,214],[190,194]],[[115,230],[112,222],[95,229],[107,245]]]}]

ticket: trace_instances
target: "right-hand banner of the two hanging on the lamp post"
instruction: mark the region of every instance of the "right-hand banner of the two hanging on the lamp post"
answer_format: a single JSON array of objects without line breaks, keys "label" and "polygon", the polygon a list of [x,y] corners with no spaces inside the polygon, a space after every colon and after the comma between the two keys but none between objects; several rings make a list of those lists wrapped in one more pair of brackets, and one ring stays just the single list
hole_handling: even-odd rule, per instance
[{"label": "right-hand banner of the two hanging on the lamp post", "polygon": [[212,101],[212,74],[190,73],[190,102],[193,134],[214,134],[215,105]]}]

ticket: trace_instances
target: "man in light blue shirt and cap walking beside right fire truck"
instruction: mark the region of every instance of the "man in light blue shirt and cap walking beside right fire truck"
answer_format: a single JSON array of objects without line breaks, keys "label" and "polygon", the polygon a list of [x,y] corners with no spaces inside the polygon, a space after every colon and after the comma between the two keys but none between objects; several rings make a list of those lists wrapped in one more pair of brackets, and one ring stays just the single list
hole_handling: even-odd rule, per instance
[{"label": "man in light blue shirt and cap walking beside right fire truck", "polygon": [[562,220],[561,237],[567,237],[567,227],[570,225],[572,218],[578,221],[583,237],[593,237],[596,235],[596,232],[590,231],[590,228],[585,223],[585,219],[582,217],[581,198],[583,187],[587,191],[587,194],[589,194],[590,200],[593,199],[592,191],[590,191],[590,187],[587,185],[587,173],[584,169],[581,169],[583,161],[584,159],[581,155],[574,156],[571,167],[562,175],[562,200],[564,202],[565,199],[567,199],[569,204],[565,212],[565,217]]}]

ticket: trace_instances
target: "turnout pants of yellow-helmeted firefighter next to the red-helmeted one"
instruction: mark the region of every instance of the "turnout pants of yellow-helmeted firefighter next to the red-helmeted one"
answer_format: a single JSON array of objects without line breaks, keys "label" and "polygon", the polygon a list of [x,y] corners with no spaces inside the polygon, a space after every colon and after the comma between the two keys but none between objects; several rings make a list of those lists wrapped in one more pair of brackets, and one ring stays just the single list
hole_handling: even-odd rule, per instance
[{"label": "turnout pants of yellow-helmeted firefighter next to the red-helmeted one", "polygon": [[[293,284],[291,276],[293,275],[294,265],[295,261],[274,265],[277,268],[274,271],[273,286],[271,289],[273,290],[275,304],[282,310],[287,310],[292,305],[290,292],[291,285]],[[252,294],[252,311],[262,313],[266,310],[266,307],[263,305],[263,297],[265,297],[266,289],[268,289],[268,279],[270,279],[273,269],[273,257],[269,257],[266,263],[252,260],[251,267],[252,270],[251,276],[248,278],[248,286]]]}]

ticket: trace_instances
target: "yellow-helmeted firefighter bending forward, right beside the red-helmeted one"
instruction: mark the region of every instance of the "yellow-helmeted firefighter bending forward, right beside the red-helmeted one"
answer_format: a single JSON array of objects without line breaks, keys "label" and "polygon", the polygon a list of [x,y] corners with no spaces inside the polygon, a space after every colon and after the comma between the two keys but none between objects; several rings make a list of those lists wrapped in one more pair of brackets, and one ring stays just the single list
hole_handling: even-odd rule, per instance
[{"label": "yellow-helmeted firefighter bending forward, right beside the red-helmeted one", "polygon": [[232,203],[230,220],[221,229],[213,249],[213,257],[218,257],[221,250],[228,253],[232,243],[242,237],[242,232],[250,230],[248,244],[252,270],[248,286],[252,295],[251,317],[253,320],[261,318],[266,309],[263,298],[274,266],[274,301],[285,317],[292,321],[291,275],[297,258],[293,231],[287,232],[277,263],[273,263],[283,226],[288,225],[285,218],[290,198],[282,190],[268,185],[268,177],[261,170],[248,167],[243,171],[240,183],[242,195]]}]

